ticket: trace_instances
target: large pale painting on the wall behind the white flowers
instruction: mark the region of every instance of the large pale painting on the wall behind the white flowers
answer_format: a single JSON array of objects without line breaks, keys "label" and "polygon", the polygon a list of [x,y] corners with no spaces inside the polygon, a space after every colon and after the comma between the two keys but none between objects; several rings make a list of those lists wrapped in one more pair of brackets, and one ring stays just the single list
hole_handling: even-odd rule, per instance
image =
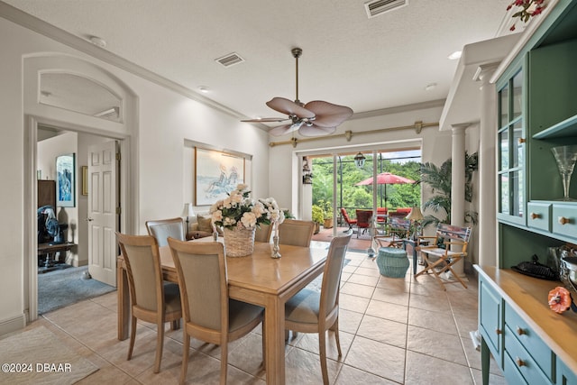
[{"label": "large pale painting on the wall behind the white flowers", "polygon": [[244,183],[243,156],[195,147],[195,206],[209,206]]}]

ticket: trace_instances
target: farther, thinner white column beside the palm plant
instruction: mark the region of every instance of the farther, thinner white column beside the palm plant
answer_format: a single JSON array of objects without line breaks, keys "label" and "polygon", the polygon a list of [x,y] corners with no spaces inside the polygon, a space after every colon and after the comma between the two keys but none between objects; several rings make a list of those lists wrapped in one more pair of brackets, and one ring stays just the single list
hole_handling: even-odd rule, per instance
[{"label": "farther, thinner white column beside the palm plant", "polygon": [[[452,124],[451,147],[451,225],[463,226],[465,222],[465,129],[470,124]],[[453,265],[458,276],[463,276],[464,261]]]}]

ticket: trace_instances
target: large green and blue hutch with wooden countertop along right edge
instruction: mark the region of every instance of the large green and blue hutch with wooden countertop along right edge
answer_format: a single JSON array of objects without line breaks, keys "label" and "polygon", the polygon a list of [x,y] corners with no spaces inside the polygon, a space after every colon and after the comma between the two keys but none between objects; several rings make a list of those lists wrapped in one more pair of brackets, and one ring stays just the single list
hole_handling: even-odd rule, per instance
[{"label": "large green and blue hutch with wooden countertop along right edge", "polygon": [[[577,243],[577,201],[561,200],[551,151],[577,144],[577,0],[548,6],[495,83],[498,268],[475,267],[484,384],[490,353],[508,383],[577,384],[577,316],[555,315],[546,302],[562,283],[509,270]],[[569,195],[577,199],[577,170]]]}]

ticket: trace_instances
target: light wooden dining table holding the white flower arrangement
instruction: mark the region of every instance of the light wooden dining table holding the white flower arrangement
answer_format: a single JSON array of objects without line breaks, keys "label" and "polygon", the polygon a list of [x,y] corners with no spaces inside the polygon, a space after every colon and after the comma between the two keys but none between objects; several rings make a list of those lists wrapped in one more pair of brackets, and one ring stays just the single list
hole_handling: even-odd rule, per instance
[{"label": "light wooden dining table holding the white flower arrangement", "polygon": [[[222,242],[222,238],[219,239]],[[192,242],[214,242],[212,237]],[[280,245],[279,259],[270,258],[272,243],[254,243],[252,255],[227,257],[230,298],[264,307],[268,384],[285,383],[285,302],[319,276],[329,243],[311,247]],[[159,248],[164,280],[178,282],[169,246]],[[130,296],[123,256],[117,259],[118,339],[128,337]]]}]

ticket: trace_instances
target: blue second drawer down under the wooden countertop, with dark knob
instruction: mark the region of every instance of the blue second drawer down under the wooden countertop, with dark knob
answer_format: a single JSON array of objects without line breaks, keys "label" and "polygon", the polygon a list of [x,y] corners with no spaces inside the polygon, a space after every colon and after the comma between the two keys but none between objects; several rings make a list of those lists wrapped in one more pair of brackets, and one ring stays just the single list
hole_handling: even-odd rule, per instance
[{"label": "blue second drawer down under the wooden countertop, with dark knob", "polygon": [[[508,325],[505,326],[505,357],[503,359],[504,362],[507,362],[507,366],[505,371],[505,377],[508,380],[508,383],[516,383],[511,382],[509,378],[510,372],[513,371],[512,368],[509,369],[509,366],[515,368],[531,385],[537,384],[551,384],[551,380],[545,376],[545,373],[541,371],[539,365],[537,365],[536,360],[527,352],[527,350],[519,343],[517,338],[513,335],[515,333],[510,329]],[[549,356],[551,356],[551,351],[547,349],[549,352]],[[531,353],[536,353],[535,351],[530,350]],[[551,361],[551,359],[549,359]],[[509,371],[509,372],[507,372]]]}]

